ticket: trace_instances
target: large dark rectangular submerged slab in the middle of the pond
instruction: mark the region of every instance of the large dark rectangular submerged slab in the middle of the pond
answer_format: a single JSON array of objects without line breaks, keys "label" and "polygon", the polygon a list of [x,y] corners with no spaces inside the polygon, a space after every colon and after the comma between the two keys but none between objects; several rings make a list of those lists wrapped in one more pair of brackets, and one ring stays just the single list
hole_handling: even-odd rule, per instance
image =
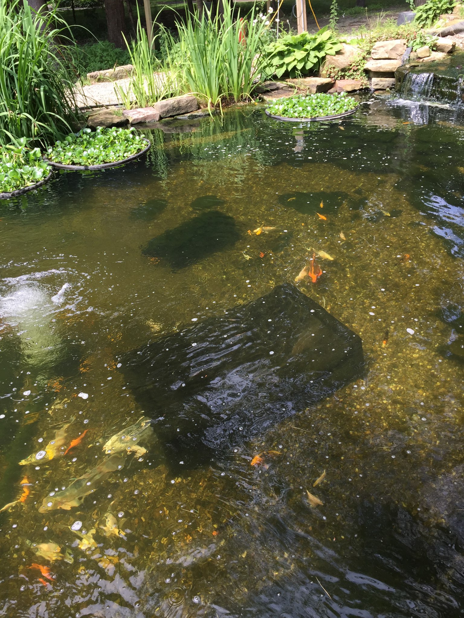
[{"label": "large dark rectangular submerged slab in the middle of the pond", "polygon": [[286,284],[127,353],[122,366],[163,442],[218,453],[358,378],[364,360],[358,335]]}]

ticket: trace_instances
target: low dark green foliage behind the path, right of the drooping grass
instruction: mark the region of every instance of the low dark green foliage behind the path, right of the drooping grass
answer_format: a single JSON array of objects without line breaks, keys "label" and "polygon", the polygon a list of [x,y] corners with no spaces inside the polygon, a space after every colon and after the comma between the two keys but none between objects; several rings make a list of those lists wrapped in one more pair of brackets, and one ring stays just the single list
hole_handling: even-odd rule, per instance
[{"label": "low dark green foliage behind the path, right of the drooping grass", "polygon": [[127,49],[119,49],[110,41],[72,45],[67,48],[67,53],[79,75],[87,75],[92,71],[113,69],[115,66],[129,64],[130,62]]}]

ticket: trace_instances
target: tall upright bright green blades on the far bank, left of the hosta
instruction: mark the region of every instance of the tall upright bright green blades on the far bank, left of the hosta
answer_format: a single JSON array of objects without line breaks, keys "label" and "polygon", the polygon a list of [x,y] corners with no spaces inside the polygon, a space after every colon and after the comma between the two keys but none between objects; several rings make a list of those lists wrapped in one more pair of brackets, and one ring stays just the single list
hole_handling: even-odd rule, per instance
[{"label": "tall upright bright green blades on the far bank, left of the hosta", "polygon": [[223,14],[204,10],[186,22],[176,22],[178,43],[171,40],[166,64],[178,69],[189,90],[205,104],[221,99],[233,103],[251,98],[267,64],[262,33],[269,22],[253,8],[247,19],[223,0]]}]

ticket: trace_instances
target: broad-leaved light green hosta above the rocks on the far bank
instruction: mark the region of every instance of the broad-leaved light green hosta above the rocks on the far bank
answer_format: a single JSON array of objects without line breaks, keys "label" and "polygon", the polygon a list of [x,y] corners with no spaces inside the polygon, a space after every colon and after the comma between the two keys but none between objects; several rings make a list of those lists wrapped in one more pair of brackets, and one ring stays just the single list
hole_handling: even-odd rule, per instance
[{"label": "broad-leaved light green hosta above the rocks on the far bank", "polygon": [[266,46],[265,53],[271,73],[277,77],[307,74],[317,70],[325,56],[335,56],[342,49],[332,30],[327,26],[314,35],[302,32],[299,35],[286,35]]}]

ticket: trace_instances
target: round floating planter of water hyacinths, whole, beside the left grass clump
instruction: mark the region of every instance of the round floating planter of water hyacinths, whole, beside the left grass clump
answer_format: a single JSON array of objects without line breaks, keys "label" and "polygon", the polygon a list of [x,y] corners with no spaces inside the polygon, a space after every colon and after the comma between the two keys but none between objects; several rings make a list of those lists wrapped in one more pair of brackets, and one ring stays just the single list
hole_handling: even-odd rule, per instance
[{"label": "round floating planter of water hyacinths, whole, beside the left grass clump", "polygon": [[101,165],[127,159],[146,146],[135,129],[82,129],[48,148],[47,158],[64,165]]}]

